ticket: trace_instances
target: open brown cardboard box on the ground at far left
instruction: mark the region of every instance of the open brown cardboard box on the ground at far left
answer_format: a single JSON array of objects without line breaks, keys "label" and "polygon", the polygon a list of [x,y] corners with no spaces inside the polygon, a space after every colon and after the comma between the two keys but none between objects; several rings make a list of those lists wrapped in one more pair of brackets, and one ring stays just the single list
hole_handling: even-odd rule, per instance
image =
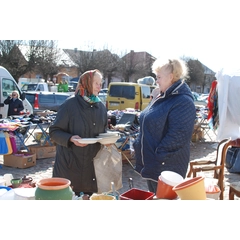
[{"label": "open brown cardboard box on the ground at far left", "polygon": [[18,153],[4,155],[3,164],[8,167],[28,168],[36,165],[36,154],[19,151]]}]

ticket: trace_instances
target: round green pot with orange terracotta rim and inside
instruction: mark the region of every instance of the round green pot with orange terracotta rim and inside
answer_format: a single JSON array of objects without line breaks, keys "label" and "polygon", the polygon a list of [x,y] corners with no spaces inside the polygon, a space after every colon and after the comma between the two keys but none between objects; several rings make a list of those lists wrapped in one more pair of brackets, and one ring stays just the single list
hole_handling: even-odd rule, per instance
[{"label": "round green pot with orange terracotta rim and inside", "polygon": [[71,181],[66,178],[41,179],[36,185],[35,200],[72,200]]}]

